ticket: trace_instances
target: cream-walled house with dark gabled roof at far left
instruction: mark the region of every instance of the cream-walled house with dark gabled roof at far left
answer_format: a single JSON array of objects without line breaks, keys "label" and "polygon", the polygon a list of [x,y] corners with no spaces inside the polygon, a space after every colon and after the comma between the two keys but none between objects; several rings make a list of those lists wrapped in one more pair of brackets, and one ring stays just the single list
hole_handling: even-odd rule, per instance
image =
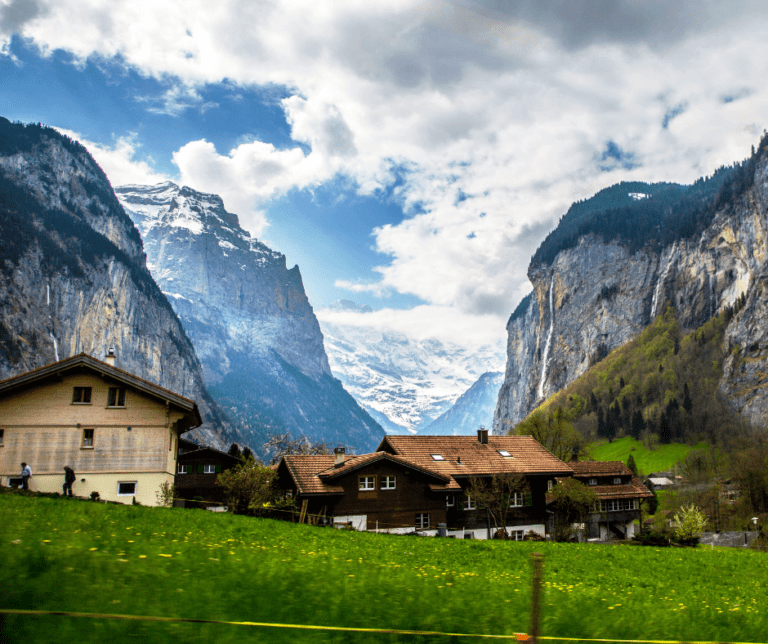
[{"label": "cream-walled house with dark gabled roof at far left", "polygon": [[32,468],[30,489],[157,505],[180,436],[202,424],[194,401],[85,353],[0,382],[0,484]]}]

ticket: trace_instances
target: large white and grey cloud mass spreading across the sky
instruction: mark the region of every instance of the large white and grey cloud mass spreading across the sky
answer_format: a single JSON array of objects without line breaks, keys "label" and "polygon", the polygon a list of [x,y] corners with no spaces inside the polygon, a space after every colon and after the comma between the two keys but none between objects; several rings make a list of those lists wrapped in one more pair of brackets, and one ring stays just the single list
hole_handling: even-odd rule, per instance
[{"label": "large white and grey cloud mass spreading across the sky", "polygon": [[[44,50],[175,78],[169,111],[225,79],[289,88],[282,106],[310,151],[193,141],[174,155],[181,181],[221,194],[258,235],[269,200],[294,187],[344,174],[372,194],[405,169],[395,192],[413,216],[375,232],[389,258],[376,288],[502,326],[571,202],[619,180],[710,173],[746,156],[768,115],[768,22],[754,0],[605,0],[588,13],[568,0],[27,5],[8,23]],[[609,141],[638,167],[602,171]]]}]

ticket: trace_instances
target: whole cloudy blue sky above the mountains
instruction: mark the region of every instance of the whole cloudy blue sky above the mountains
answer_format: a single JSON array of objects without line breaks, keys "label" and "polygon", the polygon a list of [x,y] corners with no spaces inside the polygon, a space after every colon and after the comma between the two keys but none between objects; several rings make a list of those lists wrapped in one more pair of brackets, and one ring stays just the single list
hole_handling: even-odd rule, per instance
[{"label": "whole cloudy blue sky above the mountains", "polygon": [[749,155],[766,9],[0,0],[0,116],[79,139],[115,186],[221,195],[316,309],[374,309],[337,323],[502,342],[573,201]]}]

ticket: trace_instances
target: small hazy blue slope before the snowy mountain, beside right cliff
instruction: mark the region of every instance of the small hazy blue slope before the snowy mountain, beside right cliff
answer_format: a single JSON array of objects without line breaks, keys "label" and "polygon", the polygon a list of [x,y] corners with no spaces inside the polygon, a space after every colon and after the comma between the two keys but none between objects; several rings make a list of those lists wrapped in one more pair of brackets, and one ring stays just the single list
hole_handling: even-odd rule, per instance
[{"label": "small hazy blue slope before the snowy mountain, beside right cliff", "polygon": [[501,371],[484,373],[459,396],[448,411],[427,425],[423,433],[471,436],[480,427],[490,429],[493,426],[493,413],[496,411],[499,389],[503,382],[504,374]]}]

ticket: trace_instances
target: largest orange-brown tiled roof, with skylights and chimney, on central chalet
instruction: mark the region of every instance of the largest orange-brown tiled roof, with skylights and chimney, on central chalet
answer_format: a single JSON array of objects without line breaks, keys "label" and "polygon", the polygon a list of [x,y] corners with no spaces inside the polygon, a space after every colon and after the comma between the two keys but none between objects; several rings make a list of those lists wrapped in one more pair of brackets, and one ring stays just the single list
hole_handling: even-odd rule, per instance
[{"label": "largest orange-brown tiled roof, with skylights and chimney, on central chalet", "polygon": [[[386,436],[380,450],[402,456],[422,468],[451,477],[490,474],[570,475],[566,463],[530,436],[489,436],[482,444],[476,436]],[[498,450],[506,450],[505,458]],[[445,460],[436,461],[432,454]]]}]

